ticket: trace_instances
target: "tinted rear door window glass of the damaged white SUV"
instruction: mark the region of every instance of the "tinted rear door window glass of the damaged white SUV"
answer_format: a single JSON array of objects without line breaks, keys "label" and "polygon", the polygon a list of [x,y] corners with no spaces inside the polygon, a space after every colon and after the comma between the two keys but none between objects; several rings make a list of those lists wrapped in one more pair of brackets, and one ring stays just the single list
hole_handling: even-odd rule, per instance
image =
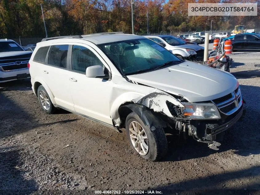
[{"label": "tinted rear door window glass of the damaged white SUV", "polygon": [[69,45],[53,45],[49,51],[48,64],[66,68]]}]

